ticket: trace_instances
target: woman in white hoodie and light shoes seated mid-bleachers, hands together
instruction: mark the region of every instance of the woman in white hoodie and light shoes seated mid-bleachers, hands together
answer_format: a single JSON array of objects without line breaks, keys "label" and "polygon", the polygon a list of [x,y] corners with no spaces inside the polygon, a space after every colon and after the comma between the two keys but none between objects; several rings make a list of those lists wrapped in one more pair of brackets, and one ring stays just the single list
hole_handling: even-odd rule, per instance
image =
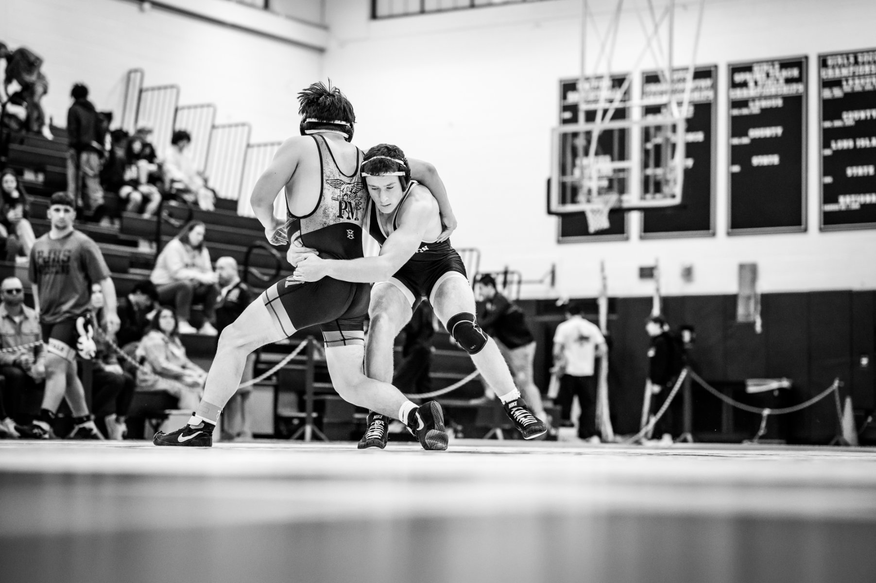
[{"label": "woman in white hoodie and light shoes seated mid-bleachers, hands together", "polygon": [[179,235],[167,242],[155,261],[150,279],[159,292],[162,304],[173,305],[180,318],[180,334],[197,334],[190,324],[192,303],[204,303],[204,323],[200,334],[215,336],[215,305],[219,295],[218,277],[210,263],[204,244],[207,228],[201,221],[191,221]]}]

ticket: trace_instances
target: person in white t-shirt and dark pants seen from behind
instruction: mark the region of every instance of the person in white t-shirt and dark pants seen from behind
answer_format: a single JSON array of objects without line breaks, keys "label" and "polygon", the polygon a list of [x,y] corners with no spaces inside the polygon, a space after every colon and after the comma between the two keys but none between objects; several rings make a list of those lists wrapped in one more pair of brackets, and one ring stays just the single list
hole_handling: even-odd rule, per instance
[{"label": "person in white t-shirt and dark pants seen from behind", "polygon": [[578,418],[578,437],[599,440],[597,413],[597,356],[605,354],[605,338],[599,327],[581,315],[580,304],[570,304],[566,321],[556,327],[554,334],[554,363],[560,371],[558,402],[562,420],[569,422],[572,400],[578,397],[581,416]]}]

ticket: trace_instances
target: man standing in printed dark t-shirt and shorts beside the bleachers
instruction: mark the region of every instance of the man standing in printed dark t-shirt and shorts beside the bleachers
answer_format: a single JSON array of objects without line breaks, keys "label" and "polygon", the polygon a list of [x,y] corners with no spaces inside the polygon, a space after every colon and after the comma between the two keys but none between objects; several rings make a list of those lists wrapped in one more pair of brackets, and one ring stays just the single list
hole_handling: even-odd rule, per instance
[{"label": "man standing in printed dark t-shirt and shorts beside the bleachers", "polygon": [[76,348],[89,317],[92,284],[101,285],[109,332],[117,331],[116,286],[95,242],[73,228],[73,197],[53,194],[48,217],[51,230],[39,237],[31,250],[33,303],[46,344],[46,393],[39,418],[29,430],[32,437],[50,438],[55,411],[67,397],[75,425],[69,437],[103,439],[88,414],[85,390],[76,375]]}]

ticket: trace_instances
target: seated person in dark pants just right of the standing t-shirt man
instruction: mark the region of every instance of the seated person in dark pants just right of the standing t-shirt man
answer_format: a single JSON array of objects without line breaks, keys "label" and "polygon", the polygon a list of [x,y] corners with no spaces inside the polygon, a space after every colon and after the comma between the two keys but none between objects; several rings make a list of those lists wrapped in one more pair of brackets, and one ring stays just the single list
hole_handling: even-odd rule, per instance
[{"label": "seated person in dark pants just right of the standing t-shirt man", "polygon": [[[103,291],[100,284],[91,286],[91,308],[95,315],[95,324],[101,334],[95,334],[94,369],[91,373],[91,409],[95,413],[98,429],[105,429],[107,439],[124,439],[127,425],[124,419],[131,406],[134,396],[134,377],[124,372],[118,363],[118,356],[109,339],[112,334],[107,330],[103,318]],[[100,425],[104,425],[101,427]]]}]

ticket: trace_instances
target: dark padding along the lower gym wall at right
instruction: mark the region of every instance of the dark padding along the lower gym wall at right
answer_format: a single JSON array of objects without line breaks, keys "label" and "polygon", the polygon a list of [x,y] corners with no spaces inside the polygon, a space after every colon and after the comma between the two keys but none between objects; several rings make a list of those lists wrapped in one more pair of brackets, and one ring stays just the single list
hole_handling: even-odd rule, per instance
[{"label": "dark padding along the lower gym wall at right", "polygon": [[[620,298],[612,304],[616,309],[609,318],[609,398],[615,431],[620,434],[639,429],[648,364],[645,320],[651,313],[651,301]],[[842,394],[851,395],[856,410],[876,407],[876,292],[764,294],[761,334],[755,332],[753,324],[736,322],[735,295],[664,298],[663,314],[673,329],[682,324],[696,327],[690,360],[706,380],[732,383],[748,378],[788,377],[794,386],[781,401],[797,404],[814,397],[839,377],[844,383]],[[560,321],[556,317],[551,320],[542,320],[536,334],[543,345],[535,366],[542,390],[547,390],[550,343]],[[861,355],[869,359],[866,367],[860,364]],[[714,398],[701,392],[695,389],[697,401]],[[736,415],[750,413],[737,411]],[[830,397],[788,415],[781,423],[787,428],[783,437],[792,442],[827,443],[837,432],[836,405]],[[702,426],[695,420],[697,425]]]}]

